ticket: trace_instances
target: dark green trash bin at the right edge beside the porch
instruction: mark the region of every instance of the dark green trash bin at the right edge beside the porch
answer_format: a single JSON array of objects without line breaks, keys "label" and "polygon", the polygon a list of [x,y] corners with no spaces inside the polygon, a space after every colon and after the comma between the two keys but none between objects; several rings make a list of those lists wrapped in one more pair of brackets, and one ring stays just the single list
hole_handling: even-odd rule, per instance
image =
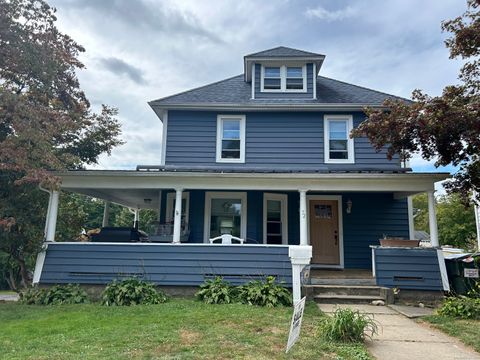
[{"label": "dark green trash bin at the right edge beside the porch", "polygon": [[[452,292],[466,295],[479,281],[480,253],[455,254],[445,258],[448,280]],[[466,270],[467,269],[467,270]]]}]

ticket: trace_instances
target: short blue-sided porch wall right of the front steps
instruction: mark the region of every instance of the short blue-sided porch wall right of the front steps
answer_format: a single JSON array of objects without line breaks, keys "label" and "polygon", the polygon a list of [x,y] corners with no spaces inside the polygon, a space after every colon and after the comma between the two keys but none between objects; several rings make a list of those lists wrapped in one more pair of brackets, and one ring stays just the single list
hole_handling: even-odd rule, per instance
[{"label": "short blue-sided porch wall right of the front steps", "polygon": [[379,286],[443,290],[436,249],[376,248],[375,270]]}]

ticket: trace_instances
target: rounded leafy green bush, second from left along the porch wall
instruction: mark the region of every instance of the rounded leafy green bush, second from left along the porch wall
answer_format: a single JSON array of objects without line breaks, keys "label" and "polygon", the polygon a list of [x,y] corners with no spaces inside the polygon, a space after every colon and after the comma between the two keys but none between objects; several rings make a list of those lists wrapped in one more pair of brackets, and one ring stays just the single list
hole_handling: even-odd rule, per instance
[{"label": "rounded leafy green bush, second from left along the porch wall", "polygon": [[154,305],[167,300],[154,284],[139,279],[114,280],[102,294],[102,304],[107,306]]}]

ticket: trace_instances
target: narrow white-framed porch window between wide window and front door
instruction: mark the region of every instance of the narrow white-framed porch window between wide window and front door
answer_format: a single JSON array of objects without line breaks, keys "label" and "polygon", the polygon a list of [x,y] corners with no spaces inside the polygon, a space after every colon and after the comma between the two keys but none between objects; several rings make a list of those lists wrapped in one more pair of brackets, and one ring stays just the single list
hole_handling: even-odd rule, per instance
[{"label": "narrow white-framed porch window between wide window and front door", "polygon": [[263,195],[263,243],[288,244],[287,195]]}]

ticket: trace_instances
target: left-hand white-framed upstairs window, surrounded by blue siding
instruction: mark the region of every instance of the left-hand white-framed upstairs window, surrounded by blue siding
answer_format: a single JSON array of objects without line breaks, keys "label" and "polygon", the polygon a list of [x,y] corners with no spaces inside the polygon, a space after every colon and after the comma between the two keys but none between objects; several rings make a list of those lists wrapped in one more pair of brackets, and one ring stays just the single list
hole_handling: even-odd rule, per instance
[{"label": "left-hand white-framed upstairs window, surrounded by blue siding", "polygon": [[218,115],[217,162],[245,162],[245,115]]}]

